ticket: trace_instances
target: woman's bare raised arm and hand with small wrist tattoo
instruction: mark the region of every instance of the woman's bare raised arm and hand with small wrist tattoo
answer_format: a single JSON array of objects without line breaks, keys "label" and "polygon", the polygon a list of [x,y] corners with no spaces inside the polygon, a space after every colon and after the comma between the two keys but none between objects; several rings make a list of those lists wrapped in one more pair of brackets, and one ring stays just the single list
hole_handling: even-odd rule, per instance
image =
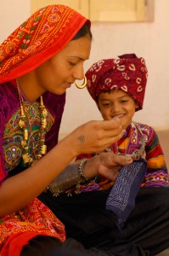
[{"label": "woman's bare raised arm and hand with small wrist tattoo", "polygon": [[[0,187],[0,216],[19,210],[40,195],[76,155],[102,151],[122,135],[119,119],[90,121],[79,126],[34,166],[3,182]],[[87,171],[88,176],[90,172]]]}]

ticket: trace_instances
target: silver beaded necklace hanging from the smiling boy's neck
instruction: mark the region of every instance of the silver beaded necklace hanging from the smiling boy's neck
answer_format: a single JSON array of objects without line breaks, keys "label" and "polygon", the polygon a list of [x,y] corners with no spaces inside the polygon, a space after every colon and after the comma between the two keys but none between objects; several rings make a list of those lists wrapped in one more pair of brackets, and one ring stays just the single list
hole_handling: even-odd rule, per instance
[{"label": "silver beaded necklace hanging from the smiling boy's neck", "polygon": [[[118,146],[117,144],[115,143],[115,146],[116,146],[116,153],[115,154],[122,154],[122,155],[128,155],[128,156],[131,156],[133,160],[139,160],[140,157],[144,154],[144,149],[145,149],[145,146],[146,146],[146,143],[147,143],[147,137],[144,136],[143,132],[141,131],[141,129],[138,127],[137,123],[136,122],[132,122],[132,124],[136,127],[136,129],[138,130],[138,132],[140,133],[141,135],[141,140],[139,141],[139,144],[140,144],[140,148],[136,149],[132,154],[122,154],[118,151]],[[104,151],[106,152],[112,152],[112,148],[105,148]]]}]

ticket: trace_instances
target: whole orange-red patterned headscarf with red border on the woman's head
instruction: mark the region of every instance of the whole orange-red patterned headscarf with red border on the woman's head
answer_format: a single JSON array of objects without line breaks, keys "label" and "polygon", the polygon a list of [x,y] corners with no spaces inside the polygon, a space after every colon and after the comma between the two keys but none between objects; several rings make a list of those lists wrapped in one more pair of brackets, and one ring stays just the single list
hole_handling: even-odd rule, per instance
[{"label": "whole orange-red patterned headscarf with red border on the woman's head", "polygon": [[40,66],[63,49],[90,21],[65,5],[49,5],[19,26],[0,45],[0,84]]}]

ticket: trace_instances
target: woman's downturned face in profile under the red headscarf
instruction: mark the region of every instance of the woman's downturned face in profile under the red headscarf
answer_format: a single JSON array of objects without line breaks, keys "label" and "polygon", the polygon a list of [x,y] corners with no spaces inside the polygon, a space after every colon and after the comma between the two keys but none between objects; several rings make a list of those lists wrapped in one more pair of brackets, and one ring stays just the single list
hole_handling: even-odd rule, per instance
[{"label": "woman's downturned face in profile under the red headscarf", "polygon": [[85,35],[70,41],[58,54],[37,67],[35,75],[39,92],[48,90],[61,95],[75,79],[83,79],[83,63],[89,58],[90,49],[91,38]]}]

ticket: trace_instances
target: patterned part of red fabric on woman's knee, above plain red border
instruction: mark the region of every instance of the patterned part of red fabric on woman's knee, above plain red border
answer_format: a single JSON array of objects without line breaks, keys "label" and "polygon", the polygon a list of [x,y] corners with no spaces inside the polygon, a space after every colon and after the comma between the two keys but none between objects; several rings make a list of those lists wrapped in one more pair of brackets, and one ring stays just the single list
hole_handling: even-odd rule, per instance
[{"label": "patterned part of red fabric on woman's knee, above plain red border", "polygon": [[35,199],[13,214],[0,218],[0,252],[8,237],[25,231],[54,236],[65,241],[65,227],[48,207]]}]

